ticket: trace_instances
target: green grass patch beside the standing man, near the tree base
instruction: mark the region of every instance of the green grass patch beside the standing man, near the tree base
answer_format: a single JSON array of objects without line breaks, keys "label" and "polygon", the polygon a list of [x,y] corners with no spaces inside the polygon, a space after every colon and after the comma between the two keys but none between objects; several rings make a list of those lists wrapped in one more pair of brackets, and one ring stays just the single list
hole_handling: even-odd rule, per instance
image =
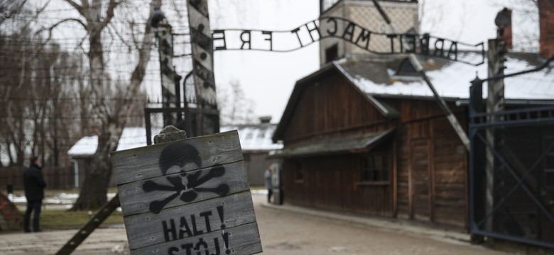
[{"label": "green grass patch beside the standing man, near the tree base", "polygon": [[[21,212],[23,220],[25,212]],[[92,213],[94,216],[94,212]],[[53,229],[78,229],[89,221],[87,211],[70,212],[67,210],[42,210],[40,212],[40,228],[45,230]],[[121,212],[112,212],[102,225],[123,224],[123,215]],[[102,226],[101,225],[101,226]]]}]

